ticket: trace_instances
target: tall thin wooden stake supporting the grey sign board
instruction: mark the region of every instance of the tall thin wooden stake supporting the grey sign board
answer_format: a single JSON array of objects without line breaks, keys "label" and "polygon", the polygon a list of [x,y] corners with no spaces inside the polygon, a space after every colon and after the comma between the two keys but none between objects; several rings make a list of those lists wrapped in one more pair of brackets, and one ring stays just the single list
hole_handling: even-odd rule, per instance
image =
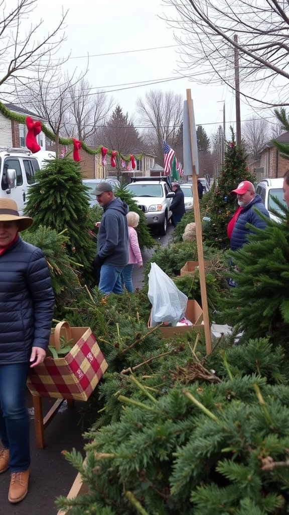
[{"label": "tall thin wooden stake supporting the grey sign board", "polygon": [[200,286],[201,286],[202,309],[203,309],[203,315],[204,315],[206,351],[207,351],[207,354],[210,354],[212,351],[211,329],[210,329],[210,321],[209,321],[207,289],[206,289],[206,280],[205,280],[205,265],[204,265],[204,253],[203,253],[203,238],[202,238],[200,203],[198,201],[198,193],[197,193],[197,176],[196,176],[196,166],[195,166],[197,148],[195,145],[194,134],[193,134],[193,131],[195,131],[195,124],[194,124],[194,111],[193,111],[191,90],[187,90],[187,106],[188,106],[188,119],[189,119],[189,124],[188,124],[189,125],[189,142],[190,142],[190,153],[191,153],[191,162],[192,162],[193,208],[194,208],[195,229],[196,229],[198,270],[200,272]]}]

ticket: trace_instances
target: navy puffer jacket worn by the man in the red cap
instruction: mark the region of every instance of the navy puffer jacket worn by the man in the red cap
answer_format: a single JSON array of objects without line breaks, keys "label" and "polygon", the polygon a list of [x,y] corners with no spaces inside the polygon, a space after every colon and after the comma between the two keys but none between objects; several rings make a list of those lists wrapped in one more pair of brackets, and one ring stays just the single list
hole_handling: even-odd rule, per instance
[{"label": "navy puffer jacket worn by the man in the red cap", "polygon": [[269,213],[266,210],[260,195],[256,193],[254,199],[242,209],[236,220],[230,239],[231,250],[238,250],[245,243],[248,243],[247,235],[252,231],[246,227],[247,223],[258,227],[259,229],[265,229],[266,222],[261,220],[260,216],[254,211],[255,208],[269,218]]}]

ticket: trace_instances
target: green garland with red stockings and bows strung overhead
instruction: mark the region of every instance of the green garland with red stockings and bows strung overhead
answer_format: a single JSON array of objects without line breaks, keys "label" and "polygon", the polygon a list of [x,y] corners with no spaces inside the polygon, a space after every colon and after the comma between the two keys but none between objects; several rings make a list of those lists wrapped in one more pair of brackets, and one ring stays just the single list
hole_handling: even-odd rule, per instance
[{"label": "green garland with red stockings and bows strung overhead", "polygon": [[[32,118],[30,118],[30,116],[25,116],[24,114],[13,113],[9,109],[7,109],[7,107],[5,107],[4,104],[2,104],[2,102],[0,102],[0,113],[2,113],[3,116],[5,116],[5,118],[8,118],[11,121],[18,122],[19,124],[23,124],[23,125],[27,126],[28,133],[27,133],[27,137],[26,137],[26,146],[27,146],[27,148],[29,148],[29,150],[31,150],[32,153],[40,150],[40,147],[36,150],[37,146],[39,146],[36,141],[36,136],[37,136],[37,134],[40,133],[40,131],[42,131],[43,134],[45,134],[45,136],[46,136],[46,138],[48,138],[48,140],[56,142],[55,134],[53,132],[51,132],[46,127],[46,125],[44,125],[41,122],[33,122]],[[123,156],[121,153],[119,153],[115,150],[109,150],[107,148],[104,148],[102,145],[100,145],[98,148],[92,150],[83,141],[76,140],[75,138],[59,138],[58,141],[59,141],[60,145],[65,145],[65,146],[73,145],[73,147],[74,147],[73,156],[74,156],[75,161],[80,161],[80,159],[81,159],[79,156],[79,150],[81,148],[84,150],[84,152],[86,152],[87,154],[90,154],[91,156],[95,155],[95,154],[101,154],[102,155],[102,163],[104,161],[106,161],[106,157],[105,157],[106,154],[111,157],[112,162],[115,162],[116,157],[119,157],[119,159],[121,161],[124,161],[127,165],[129,163],[131,163],[131,165],[133,165],[135,159],[140,160],[143,156],[143,153],[141,153],[139,156],[132,156],[132,155]],[[104,154],[103,154],[103,150],[104,151],[106,150],[106,152]],[[133,160],[131,158],[133,158]],[[132,167],[135,168],[135,166],[132,166]]]}]

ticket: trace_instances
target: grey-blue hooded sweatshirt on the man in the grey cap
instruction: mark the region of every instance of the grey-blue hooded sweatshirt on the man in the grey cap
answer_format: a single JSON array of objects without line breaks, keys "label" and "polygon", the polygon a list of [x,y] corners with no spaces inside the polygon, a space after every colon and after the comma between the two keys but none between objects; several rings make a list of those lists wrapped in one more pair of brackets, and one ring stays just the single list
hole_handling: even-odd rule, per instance
[{"label": "grey-blue hooded sweatshirt on the man in the grey cap", "polygon": [[97,235],[97,255],[104,265],[126,266],[129,262],[128,204],[116,197],[103,208]]}]

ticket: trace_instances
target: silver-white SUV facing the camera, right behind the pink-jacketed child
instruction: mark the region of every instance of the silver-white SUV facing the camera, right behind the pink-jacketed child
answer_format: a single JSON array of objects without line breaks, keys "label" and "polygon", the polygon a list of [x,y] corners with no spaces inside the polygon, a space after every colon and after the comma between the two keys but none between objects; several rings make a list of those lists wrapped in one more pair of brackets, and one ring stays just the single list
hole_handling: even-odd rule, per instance
[{"label": "silver-white SUV facing the camera, right behind the pink-jacketed child", "polygon": [[156,227],[160,234],[167,233],[172,216],[170,205],[174,193],[166,177],[132,177],[128,190],[133,194],[149,227]]}]

